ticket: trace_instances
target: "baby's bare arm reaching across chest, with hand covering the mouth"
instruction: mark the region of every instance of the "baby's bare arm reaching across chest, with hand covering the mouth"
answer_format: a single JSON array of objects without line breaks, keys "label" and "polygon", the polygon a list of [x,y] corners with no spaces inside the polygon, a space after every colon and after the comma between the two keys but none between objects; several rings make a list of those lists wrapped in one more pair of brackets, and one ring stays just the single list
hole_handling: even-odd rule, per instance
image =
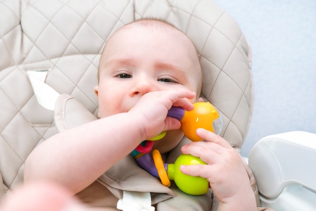
[{"label": "baby's bare arm reaching across chest, with hand covering the mouth", "polygon": [[25,162],[24,179],[51,180],[77,193],[141,141],[179,129],[180,122],[167,117],[167,112],[172,105],[192,110],[188,99],[194,97],[185,89],[147,93],[128,112],[57,134],[31,152]]}]

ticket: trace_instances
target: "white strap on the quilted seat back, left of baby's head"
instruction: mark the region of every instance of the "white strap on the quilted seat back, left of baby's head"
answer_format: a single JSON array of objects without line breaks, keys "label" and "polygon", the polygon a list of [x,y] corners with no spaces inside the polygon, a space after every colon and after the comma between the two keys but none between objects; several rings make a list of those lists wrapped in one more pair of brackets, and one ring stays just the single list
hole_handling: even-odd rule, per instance
[{"label": "white strap on the quilted seat back, left of baby's head", "polygon": [[27,71],[37,102],[48,110],[54,111],[58,92],[48,86],[44,81],[47,70]]}]

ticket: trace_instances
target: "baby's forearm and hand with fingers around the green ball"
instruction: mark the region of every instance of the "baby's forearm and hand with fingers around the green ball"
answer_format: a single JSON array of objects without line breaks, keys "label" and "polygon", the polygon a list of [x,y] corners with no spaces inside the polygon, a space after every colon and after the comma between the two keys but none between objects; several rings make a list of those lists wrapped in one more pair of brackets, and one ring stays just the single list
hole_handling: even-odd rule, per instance
[{"label": "baby's forearm and hand with fingers around the green ball", "polygon": [[182,152],[200,157],[208,165],[183,165],[180,170],[208,180],[220,201],[218,210],[257,210],[255,195],[239,153],[212,132],[198,129],[196,133],[205,142],[185,145]]}]

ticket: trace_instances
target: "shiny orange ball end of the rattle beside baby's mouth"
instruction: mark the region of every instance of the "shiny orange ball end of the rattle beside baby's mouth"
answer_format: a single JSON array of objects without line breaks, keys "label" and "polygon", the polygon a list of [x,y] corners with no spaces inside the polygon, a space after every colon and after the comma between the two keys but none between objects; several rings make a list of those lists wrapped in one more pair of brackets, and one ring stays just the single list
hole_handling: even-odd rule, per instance
[{"label": "shiny orange ball end of the rattle beside baby's mouth", "polygon": [[181,119],[181,128],[191,141],[201,141],[196,135],[196,129],[203,128],[214,133],[213,122],[220,118],[218,110],[208,102],[194,103],[192,111],[185,111]]}]

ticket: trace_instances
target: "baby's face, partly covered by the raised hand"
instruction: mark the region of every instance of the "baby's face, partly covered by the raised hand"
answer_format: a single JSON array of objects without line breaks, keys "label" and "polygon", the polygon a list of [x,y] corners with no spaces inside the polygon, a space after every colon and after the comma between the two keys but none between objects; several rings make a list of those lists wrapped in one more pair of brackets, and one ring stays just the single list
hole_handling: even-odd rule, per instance
[{"label": "baby's face, partly covered by the raised hand", "polygon": [[[179,31],[129,27],[116,32],[100,60],[99,117],[129,111],[148,92],[184,88],[198,93],[196,62],[193,44]],[[182,137],[181,129],[169,131],[154,148],[170,151]]]}]

